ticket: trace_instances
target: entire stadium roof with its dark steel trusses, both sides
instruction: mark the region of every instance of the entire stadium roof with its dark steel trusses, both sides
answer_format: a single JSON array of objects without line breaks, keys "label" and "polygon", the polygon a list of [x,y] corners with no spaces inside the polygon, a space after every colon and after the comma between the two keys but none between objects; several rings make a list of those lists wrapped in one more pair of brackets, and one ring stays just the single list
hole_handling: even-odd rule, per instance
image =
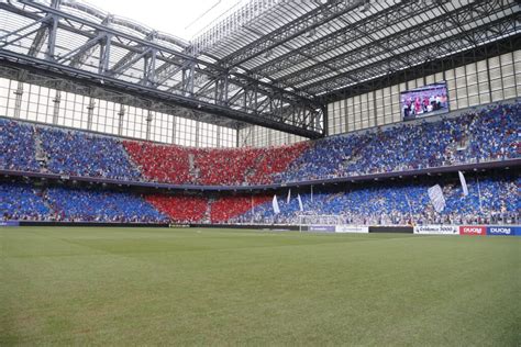
[{"label": "entire stadium roof with its dark steel trusses, both sides", "polygon": [[491,43],[519,48],[519,12],[516,0],[252,0],[186,42],[73,0],[0,1],[0,59],[318,137],[331,96]]}]

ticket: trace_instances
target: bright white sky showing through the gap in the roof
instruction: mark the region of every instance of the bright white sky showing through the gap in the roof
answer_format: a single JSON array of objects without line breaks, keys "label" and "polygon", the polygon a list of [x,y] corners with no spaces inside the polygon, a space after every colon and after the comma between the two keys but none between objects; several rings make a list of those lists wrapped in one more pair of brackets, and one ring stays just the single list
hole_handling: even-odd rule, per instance
[{"label": "bright white sky showing through the gap in the roof", "polygon": [[77,0],[151,29],[190,41],[223,13],[247,0]]}]

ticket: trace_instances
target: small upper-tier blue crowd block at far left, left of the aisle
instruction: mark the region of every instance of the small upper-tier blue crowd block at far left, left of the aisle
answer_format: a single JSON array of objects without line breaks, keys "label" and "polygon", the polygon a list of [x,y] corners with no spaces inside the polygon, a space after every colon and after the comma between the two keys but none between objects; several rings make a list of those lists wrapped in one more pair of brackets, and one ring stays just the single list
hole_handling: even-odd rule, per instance
[{"label": "small upper-tier blue crowd block at far left, left of the aisle", "polygon": [[0,119],[0,168],[19,171],[40,170],[35,159],[33,126]]}]

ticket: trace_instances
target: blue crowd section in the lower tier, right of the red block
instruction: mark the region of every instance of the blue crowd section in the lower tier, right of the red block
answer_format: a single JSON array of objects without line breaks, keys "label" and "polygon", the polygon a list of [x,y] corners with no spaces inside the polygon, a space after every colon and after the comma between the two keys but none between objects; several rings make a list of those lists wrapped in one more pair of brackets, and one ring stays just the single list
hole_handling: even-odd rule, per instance
[{"label": "blue crowd section in the lower tier, right of the red block", "polygon": [[[468,195],[463,195],[457,174],[451,180],[443,179],[446,206],[443,212],[434,211],[428,189],[436,180],[418,183],[383,182],[359,183],[348,190],[317,192],[311,199],[309,189],[301,192],[303,213],[341,215],[350,224],[429,224],[429,223],[519,223],[521,202],[519,175],[495,175],[476,178],[467,174]],[[235,222],[298,223],[300,212],[293,197],[289,204],[279,195],[280,214],[274,213],[273,203],[255,206],[236,217]]]}]

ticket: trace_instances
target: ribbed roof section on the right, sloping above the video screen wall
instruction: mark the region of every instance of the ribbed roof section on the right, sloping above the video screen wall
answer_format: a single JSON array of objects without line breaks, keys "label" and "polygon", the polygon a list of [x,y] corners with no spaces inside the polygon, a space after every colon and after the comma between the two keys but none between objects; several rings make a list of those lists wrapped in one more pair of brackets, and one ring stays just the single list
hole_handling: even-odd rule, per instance
[{"label": "ribbed roof section on the right, sloping above the video screen wall", "polygon": [[318,97],[514,36],[519,20],[516,0],[276,1],[199,49]]}]

